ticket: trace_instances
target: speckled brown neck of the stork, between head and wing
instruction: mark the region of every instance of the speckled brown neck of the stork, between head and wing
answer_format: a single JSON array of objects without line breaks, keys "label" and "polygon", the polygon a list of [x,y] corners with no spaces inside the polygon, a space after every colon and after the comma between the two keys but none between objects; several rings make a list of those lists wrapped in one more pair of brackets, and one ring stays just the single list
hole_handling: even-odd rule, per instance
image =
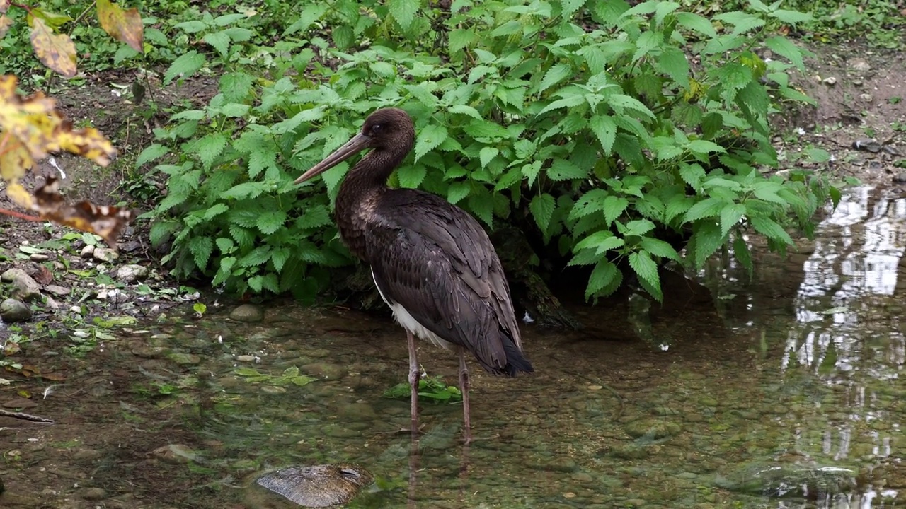
[{"label": "speckled brown neck of the stork, between head and wing", "polygon": [[352,254],[365,263],[369,263],[366,234],[372,224],[381,222],[377,208],[381,196],[390,191],[387,178],[409,150],[399,152],[371,150],[349,170],[337,193],[336,221],[340,237]]}]

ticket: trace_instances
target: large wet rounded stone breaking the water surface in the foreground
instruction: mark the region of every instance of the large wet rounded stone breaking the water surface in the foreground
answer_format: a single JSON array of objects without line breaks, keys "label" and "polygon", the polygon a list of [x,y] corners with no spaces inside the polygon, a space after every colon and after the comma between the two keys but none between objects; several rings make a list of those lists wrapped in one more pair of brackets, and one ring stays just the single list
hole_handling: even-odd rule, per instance
[{"label": "large wet rounded stone breaking the water surface in the foreground", "polygon": [[346,504],[374,477],[357,465],[290,466],[258,477],[257,483],[305,507]]}]

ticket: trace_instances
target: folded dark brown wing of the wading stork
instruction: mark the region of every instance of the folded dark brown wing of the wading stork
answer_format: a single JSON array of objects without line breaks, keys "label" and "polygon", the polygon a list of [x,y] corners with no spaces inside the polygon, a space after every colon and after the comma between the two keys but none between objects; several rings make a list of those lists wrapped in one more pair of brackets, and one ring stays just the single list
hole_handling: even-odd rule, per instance
[{"label": "folded dark brown wing of the wading stork", "polygon": [[423,327],[488,371],[515,375],[522,355],[509,286],[487,233],[443,198],[412,190],[381,200],[366,234],[375,283]]}]

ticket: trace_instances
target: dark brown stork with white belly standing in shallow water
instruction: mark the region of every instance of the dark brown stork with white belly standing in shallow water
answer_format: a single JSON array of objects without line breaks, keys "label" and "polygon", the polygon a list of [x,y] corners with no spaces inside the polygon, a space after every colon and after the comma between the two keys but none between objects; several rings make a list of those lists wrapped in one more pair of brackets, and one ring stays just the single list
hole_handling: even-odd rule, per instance
[{"label": "dark brown stork with white belly standing in shallow water", "polygon": [[346,174],[336,198],[342,241],[362,262],[406,330],[412,387],[412,434],[418,434],[419,363],[413,335],[459,353],[464,436],[471,440],[465,352],[495,375],[532,371],[500,259],[474,217],[417,189],[391,189],[387,178],[415,142],[408,113],[376,110],[361,131],[306,171],[301,183],[363,149],[371,151]]}]

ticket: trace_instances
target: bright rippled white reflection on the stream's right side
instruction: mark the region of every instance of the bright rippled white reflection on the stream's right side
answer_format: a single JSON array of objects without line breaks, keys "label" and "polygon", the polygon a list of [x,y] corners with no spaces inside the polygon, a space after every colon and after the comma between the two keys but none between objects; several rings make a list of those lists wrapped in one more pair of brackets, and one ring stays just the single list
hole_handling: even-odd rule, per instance
[{"label": "bright rippled white reflection on the stream's right side", "polygon": [[[843,464],[885,462],[903,421],[896,380],[906,363],[898,296],[906,286],[906,199],[854,189],[815,236],[781,370],[785,379],[806,370],[824,391],[790,416],[795,447]],[[868,488],[862,496],[871,495]]]}]

